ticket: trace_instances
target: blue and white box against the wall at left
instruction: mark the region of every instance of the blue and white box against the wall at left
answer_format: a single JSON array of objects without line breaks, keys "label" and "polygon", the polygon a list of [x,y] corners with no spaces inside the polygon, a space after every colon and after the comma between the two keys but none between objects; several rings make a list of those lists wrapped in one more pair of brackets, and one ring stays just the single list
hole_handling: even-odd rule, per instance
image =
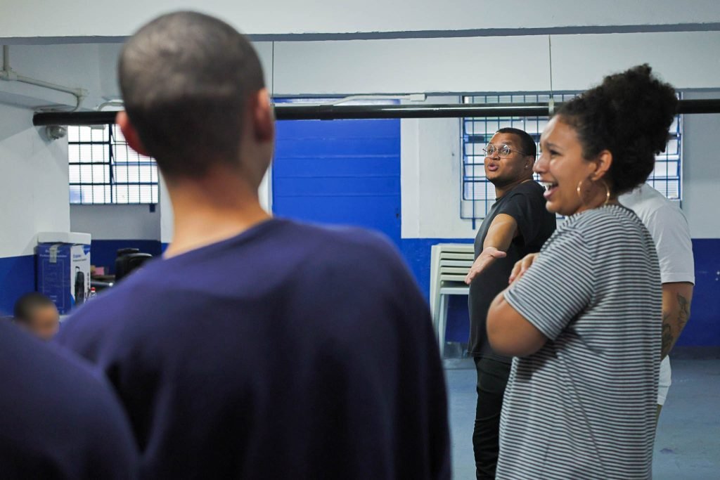
[{"label": "blue and white box against the wall at left", "polygon": [[37,291],[55,302],[60,314],[84,304],[90,293],[89,233],[37,234]]}]

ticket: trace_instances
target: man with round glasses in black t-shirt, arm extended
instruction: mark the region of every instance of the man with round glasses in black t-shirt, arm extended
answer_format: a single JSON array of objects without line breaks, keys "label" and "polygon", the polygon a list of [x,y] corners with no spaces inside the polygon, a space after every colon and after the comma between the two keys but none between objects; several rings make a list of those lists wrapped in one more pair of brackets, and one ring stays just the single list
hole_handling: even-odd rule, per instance
[{"label": "man with round glasses in black t-shirt, arm extended", "polygon": [[475,261],[465,283],[470,286],[468,352],[477,368],[477,410],[472,434],[478,479],[494,479],[503,394],[511,358],[492,351],[485,321],[492,299],[508,286],[516,261],[540,250],[555,230],[555,216],[545,209],[543,188],[533,180],[533,138],[523,130],[502,128],[485,148],[485,176],[497,200],[475,237]]}]

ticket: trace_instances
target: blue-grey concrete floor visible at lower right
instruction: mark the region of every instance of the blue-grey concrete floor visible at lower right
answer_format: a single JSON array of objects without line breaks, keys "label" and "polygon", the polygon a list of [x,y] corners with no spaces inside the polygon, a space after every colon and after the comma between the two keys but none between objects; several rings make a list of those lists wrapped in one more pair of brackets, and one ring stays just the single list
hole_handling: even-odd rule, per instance
[{"label": "blue-grey concrete floor visible at lower right", "polygon": [[[474,364],[446,360],[454,479],[475,478]],[[720,480],[720,359],[674,360],[672,387],[657,426],[654,480]]]}]

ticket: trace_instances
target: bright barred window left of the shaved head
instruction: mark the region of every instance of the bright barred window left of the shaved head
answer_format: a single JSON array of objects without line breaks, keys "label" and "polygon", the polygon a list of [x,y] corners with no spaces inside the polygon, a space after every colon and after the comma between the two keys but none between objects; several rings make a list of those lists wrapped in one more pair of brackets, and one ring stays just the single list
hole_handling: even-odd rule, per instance
[{"label": "bright barred window left of the shaved head", "polygon": [[68,127],[71,204],[156,204],[155,160],[132,150],[117,125]]}]

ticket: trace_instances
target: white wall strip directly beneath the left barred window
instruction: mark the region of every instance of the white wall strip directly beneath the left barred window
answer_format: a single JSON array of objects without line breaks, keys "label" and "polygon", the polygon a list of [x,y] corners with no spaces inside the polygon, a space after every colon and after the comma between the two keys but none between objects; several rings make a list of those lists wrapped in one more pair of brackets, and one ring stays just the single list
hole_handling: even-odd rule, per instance
[{"label": "white wall strip directly beneath the left barred window", "polygon": [[73,232],[88,232],[93,240],[157,240],[161,214],[148,205],[71,205]]}]

